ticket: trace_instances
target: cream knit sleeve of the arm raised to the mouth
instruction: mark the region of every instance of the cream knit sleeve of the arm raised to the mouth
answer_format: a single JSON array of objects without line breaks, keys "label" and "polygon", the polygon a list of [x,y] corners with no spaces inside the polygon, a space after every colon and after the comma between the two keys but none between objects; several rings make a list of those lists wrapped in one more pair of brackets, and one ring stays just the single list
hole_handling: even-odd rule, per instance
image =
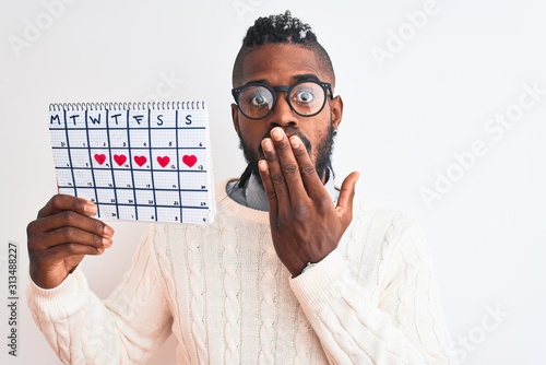
[{"label": "cream knit sleeve of the arm raised to the mouth", "polygon": [[[363,284],[335,249],[290,286],[332,364],[452,364],[420,229],[407,225]],[[373,295],[373,292],[379,293]]]}]

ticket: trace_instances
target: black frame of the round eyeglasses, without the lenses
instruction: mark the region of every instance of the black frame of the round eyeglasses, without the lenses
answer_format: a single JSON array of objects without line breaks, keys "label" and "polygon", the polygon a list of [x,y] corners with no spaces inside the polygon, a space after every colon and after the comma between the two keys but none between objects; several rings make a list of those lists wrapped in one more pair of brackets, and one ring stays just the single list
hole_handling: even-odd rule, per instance
[{"label": "black frame of the round eyeglasses, without the lenses", "polygon": [[[304,84],[304,83],[308,83],[308,82],[312,82],[317,85],[319,85],[320,87],[322,87],[322,90],[324,91],[324,101],[322,102],[322,105],[321,107],[319,108],[319,110],[317,113],[313,113],[313,114],[301,114],[299,113],[298,110],[296,110],[294,108],[294,106],[292,105],[292,102],[290,102],[290,98],[289,98],[289,95],[290,95],[290,92],[294,90],[294,87],[300,85],[300,84]],[[248,89],[248,87],[251,87],[251,86],[262,86],[262,87],[265,87],[270,93],[271,95],[273,95],[273,103],[272,103],[272,107],[271,109],[263,116],[263,117],[260,117],[260,118],[253,118],[253,117],[249,117],[245,114],[245,111],[242,111],[240,105],[239,105],[239,95],[240,93],[242,93],[244,90]],[[327,99],[329,97],[329,92],[330,91],[330,99],[333,99],[333,92],[332,92],[332,84],[331,83],[328,83],[328,82],[323,82],[323,81],[320,81],[320,80],[301,80],[297,83],[295,83],[294,85],[292,86],[287,86],[287,85],[278,85],[278,86],[270,86],[268,84],[264,84],[264,83],[261,83],[261,82],[249,82],[242,86],[239,86],[239,87],[234,87],[232,89],[232,95],[234,96],[234,99],[235,99],[235,104],[237,104],[237,107],[239,108],[239,111],[245,116],[247,117],[248,119],[251,119],[251,120],[260,120],[260,119],[265,119],[270,116],[270,114],[275,109],[275,106],[276,106],[276,102],[277,102],[277,96],[276,94],[280,93],[280,92],[284,92],[286,93],[286,103],[288,103],[288,105],[290,106],[290,109],[296,113],[298,116],[300,117],[314,117],[316,115],[318,115],[319,113],[322,111],[322,109],[324,109],[324,106],[327,105]]]}]

